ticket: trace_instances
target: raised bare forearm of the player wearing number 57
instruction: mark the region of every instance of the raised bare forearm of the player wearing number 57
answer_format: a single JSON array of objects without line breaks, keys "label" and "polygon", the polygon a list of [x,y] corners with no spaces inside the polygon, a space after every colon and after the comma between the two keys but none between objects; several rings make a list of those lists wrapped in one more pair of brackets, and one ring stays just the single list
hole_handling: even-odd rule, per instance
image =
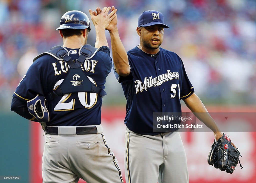
[{"label": "raised bare forearm of the player wearing number 57", "polygon": [[126,50],[119,37],[118,29],[114,28],[109,33],[115,69],[120,76],[127,76],[131,70]]}]

